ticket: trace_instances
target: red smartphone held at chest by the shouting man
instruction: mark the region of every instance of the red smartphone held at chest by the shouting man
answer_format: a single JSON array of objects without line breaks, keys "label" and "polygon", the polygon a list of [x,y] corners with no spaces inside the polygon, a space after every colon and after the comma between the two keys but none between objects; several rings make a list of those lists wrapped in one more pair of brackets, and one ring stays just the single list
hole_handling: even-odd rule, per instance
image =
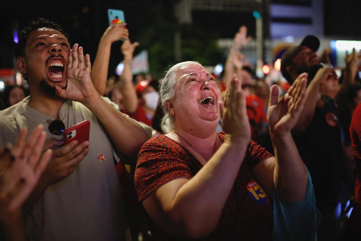
[{"label": "red smartphone held at chest by the shouting man", "polygon": [[82,121],[64,131],[64,145],[77,140],[78,143],[89,141],[90,122]]}]

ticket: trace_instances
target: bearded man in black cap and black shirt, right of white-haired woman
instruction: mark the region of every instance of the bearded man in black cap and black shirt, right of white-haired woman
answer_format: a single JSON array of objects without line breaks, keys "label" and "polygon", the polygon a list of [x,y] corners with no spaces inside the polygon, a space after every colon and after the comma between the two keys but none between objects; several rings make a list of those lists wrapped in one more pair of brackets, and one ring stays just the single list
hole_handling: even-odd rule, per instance
[{"label": "bearded man in black cap and black shirt, right of white-haired woman", "polygon": [[281,72],[291,84],[298,76],[308,77],[304,109],[293,136],[309,169],[316,206],[323,216],[318,240],[338,240],[335,208],[341,180],[346,180],[339,116],[334,101],[340,88],[335,70],[322,68],[316,54],[318,47],[316,36],[306,36],[299,46],[290,47],[283,54]]}]

